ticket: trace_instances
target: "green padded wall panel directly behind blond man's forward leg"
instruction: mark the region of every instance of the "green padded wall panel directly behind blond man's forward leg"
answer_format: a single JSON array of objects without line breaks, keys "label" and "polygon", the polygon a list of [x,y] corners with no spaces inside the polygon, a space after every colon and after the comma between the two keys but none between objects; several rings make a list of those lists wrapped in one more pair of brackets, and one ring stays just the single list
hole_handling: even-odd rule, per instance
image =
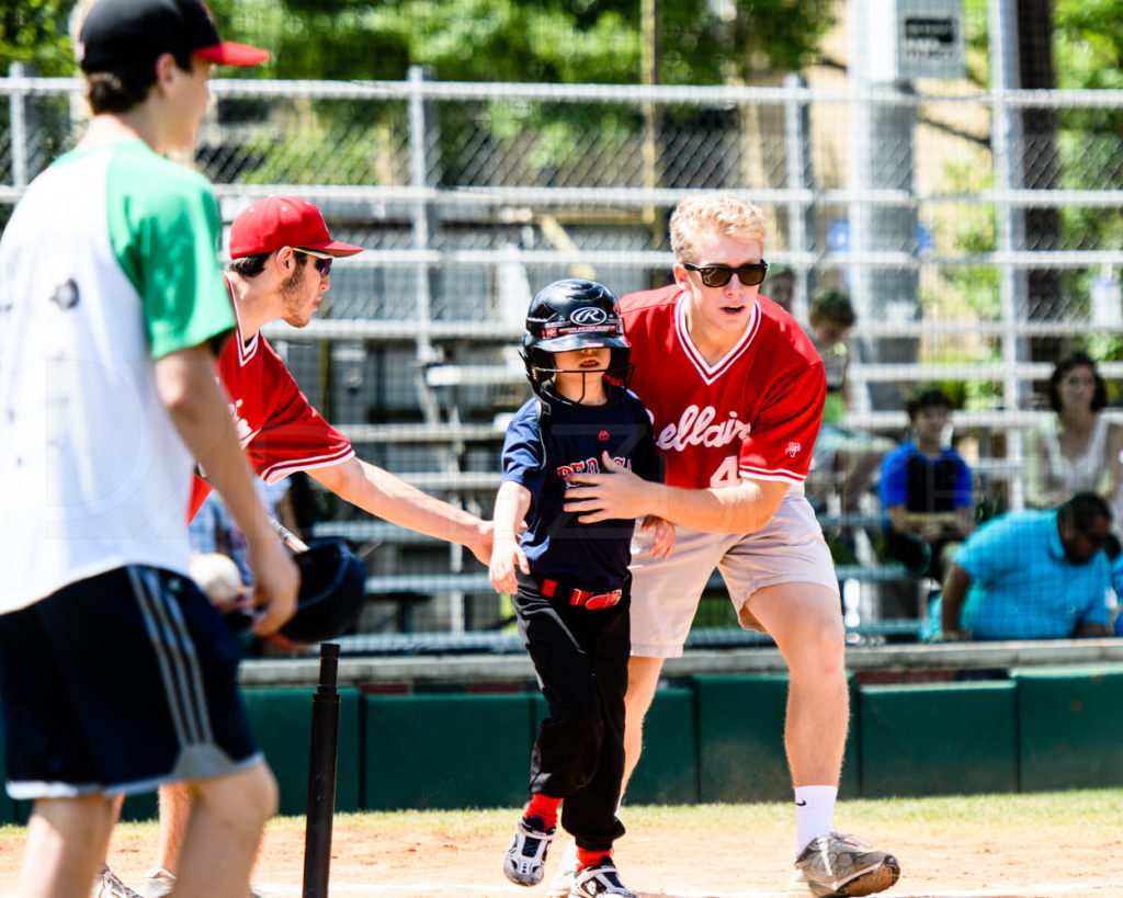
[{"label": "green padded wall panel directly behind blond man's forward leg", "polygon": [[[850,680],[851,721],[857,714]],[[697,700],[700,798],[710,801],[787,801],[792,776],[784,752],[786,674],[694,677]],[[842,760],[843,798],[859,795],[857,727]]]}]

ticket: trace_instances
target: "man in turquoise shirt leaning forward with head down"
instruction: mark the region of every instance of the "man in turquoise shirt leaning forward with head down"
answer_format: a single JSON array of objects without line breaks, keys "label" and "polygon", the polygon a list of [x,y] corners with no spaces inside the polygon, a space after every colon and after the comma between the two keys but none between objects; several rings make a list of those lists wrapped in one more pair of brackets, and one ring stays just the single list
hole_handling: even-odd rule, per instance
[{"label": "man in turquoise shirt leaning forward with head down", "polygon": [[1111,525],[1111,506],[1095,493],[1078,493],[1059,508],[988,521],[949,565],[932,610],[939,638],[1111,635],[1107,589],[1123,588]]}]

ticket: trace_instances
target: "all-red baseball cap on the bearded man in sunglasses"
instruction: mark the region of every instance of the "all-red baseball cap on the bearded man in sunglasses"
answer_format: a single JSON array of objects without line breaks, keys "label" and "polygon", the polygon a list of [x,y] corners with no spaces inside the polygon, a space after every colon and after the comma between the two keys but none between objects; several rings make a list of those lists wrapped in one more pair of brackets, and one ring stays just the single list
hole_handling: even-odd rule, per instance
[{"label": "all-red baseball cap on the bearded man in sunglasses", "polygon": [[301,196],[267,196],[244,209],[230,226],[230,258],[275,253],[286,246],[329,256],[354,256],[363,247],[332,240],[316,203]]}]

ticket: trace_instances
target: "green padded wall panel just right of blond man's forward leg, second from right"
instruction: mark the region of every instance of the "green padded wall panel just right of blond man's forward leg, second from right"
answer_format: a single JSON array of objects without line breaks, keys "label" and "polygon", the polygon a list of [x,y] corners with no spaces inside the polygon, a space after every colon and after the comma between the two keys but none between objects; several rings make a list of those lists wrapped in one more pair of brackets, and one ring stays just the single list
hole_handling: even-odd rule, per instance
[{"label": "green padded wall panel just right of blond man's forward leg, second from right", "polygon": [[1017,790],[1014,682],[862,686],[866,798]]}]

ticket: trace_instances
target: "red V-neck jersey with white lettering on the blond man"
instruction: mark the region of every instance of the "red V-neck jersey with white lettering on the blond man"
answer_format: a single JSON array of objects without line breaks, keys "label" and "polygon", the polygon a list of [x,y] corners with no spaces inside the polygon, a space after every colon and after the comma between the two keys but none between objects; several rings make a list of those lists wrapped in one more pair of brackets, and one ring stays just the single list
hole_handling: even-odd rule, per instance
[{"label": "red V-neck jersey with white lettering on the blond man", "polygon": [[666,482],[730,486],[741,477],[798,484],[811,467],[827,395],[823,363],[787,312],[758,296],[745,336],[707,365],[686,332],[677,284],[620,301]]}]

